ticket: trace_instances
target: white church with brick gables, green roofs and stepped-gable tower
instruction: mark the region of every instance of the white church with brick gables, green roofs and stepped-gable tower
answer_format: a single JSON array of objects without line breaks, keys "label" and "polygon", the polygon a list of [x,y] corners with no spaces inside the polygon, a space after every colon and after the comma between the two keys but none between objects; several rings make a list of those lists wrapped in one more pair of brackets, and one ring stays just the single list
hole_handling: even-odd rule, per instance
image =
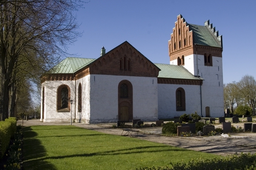
[{"label": "white church with brick gables, green roofs and stepped-gable tower", "polygon": [[[139,47],[138,47],[139,49]],[[167,50],[167,49],[166,49]],[[197,112],[224,115],[222,36],[177,16],[169,64],[152,63],[125,41],[99,58],[68,57],[41,78],[42,122],[155,121]]]}]

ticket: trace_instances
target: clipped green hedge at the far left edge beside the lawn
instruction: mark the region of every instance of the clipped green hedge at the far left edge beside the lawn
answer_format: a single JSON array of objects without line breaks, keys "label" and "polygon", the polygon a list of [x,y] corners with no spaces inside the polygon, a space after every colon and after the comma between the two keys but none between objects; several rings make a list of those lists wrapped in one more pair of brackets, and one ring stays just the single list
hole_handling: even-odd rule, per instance
[{"label": "clipped green hedge at the far left edge beside the lawn", "polygon": [[12,135],[11,123],[8,121],[0,122],[0,159],[3,158]]}]

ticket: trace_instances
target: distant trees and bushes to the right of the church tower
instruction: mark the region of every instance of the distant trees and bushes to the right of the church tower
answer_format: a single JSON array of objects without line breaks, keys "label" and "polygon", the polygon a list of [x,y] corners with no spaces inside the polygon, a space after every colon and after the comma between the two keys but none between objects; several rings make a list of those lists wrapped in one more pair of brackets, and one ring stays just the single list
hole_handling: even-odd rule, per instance
[{"label": "distant trees and bushes to the right of the church tower", "polygon": [[224,84],[224,107],[233,114],[255,114],[256,81],[245,75],[239,82]]}]

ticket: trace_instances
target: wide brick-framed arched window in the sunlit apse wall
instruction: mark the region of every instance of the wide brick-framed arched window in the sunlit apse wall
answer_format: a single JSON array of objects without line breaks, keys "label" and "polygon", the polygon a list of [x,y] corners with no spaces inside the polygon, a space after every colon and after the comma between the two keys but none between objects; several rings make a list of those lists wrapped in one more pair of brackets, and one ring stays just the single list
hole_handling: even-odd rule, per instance
[{"label": "wide brick-framed arched window in the sunlit apse wall", "polygon": [[70,88],[67,85],[61,85],[57,89],[57,110],[70,111]]}]

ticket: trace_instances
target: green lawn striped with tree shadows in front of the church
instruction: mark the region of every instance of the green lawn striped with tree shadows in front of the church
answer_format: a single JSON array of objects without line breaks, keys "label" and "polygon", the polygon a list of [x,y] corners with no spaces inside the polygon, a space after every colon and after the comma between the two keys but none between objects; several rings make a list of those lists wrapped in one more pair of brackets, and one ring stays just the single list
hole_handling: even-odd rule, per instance
[{"label": "green lawn striped with tree shadows in front of the church", "polygon": [[135,169],[215,158],[169,145],[74,126],[24,128],[24,169]]}]

